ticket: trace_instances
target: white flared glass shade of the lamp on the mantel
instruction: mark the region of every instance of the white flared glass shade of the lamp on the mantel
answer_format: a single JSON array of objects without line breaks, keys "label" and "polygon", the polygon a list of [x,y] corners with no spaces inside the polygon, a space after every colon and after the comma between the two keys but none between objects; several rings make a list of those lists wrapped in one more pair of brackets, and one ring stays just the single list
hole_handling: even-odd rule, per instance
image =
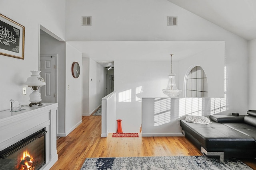
[{"label": "white flared glass shade of the lamp on the mantel", "polygon": [[44,86],[46,83],[44,82],[44,79],[40,76],[41,71],[30,71],[32,75],[27,78],[27,81],[25,82],[28,86]]}]

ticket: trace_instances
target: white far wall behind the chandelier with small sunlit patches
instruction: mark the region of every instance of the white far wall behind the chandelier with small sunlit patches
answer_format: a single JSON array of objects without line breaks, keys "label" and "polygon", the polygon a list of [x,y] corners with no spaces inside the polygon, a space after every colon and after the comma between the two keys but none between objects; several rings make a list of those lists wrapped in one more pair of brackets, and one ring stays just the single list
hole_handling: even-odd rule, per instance
[{"label": "white far wall behind the chandelier with small sunlit patches", "polygon": [[[114,61],[114,89],[116,91],[116,119],[122,119],[123,132],[138,132],[141,126],[142,97],[167,97],[162,93],[168,84],[170,62],[166,61]],[[172,63],[176,74],[178,62]],[[183,90],[182,90],[183,91]]]}]

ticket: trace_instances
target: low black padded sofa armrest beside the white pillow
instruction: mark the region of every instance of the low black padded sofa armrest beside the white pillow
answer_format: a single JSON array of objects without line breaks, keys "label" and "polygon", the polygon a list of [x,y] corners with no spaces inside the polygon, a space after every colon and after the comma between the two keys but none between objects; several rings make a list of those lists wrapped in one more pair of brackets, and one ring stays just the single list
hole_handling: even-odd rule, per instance
[{"label": "low black padded sofa armrest beside the white pillow", "polygon": [[242,123],[244,122],[244,115],[233,116],[233,115],[210,115],[212,121],[217,123]]}]

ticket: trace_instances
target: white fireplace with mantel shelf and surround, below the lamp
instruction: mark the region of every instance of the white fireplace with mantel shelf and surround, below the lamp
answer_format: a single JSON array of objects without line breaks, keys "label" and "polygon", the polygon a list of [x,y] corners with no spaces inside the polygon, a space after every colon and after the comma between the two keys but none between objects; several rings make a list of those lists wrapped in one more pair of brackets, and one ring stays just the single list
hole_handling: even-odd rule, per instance
[{"label": "white fireplace with mantel shelf and surround, below the lamp", "polygon": [[[25,147],[25,151],[28,149],[30,156],[32,156],[33,159],[36,159],[35,162],[38,161],[38,157],[42,158],[43,162],[37,163],[36,169],[39,169],[40,166],[42,166],[40,170],[49,170],[58,160],[56,148],[57,107],[58,103],[44,103],[42,106],[24,107],[26,108],[25,110],[17,112],[11,112],[10,110],[0,111],[0,152],[2,153],[4,150],[0,155],[4,156],[7,148],[10,146],[14,148],[20,143],[28,141],[27,139],[30,138],[29,136],[31,134],[40,131],[40,129],[44,129],[47,133],[30,143],[40,143],[42,141],[45,143],[39,144],[39,147],[28,145],[28,147]],[[25,146],[28,143],[23,143],[24,145],[20,146]],[[30,148],[32,148],[32,150]],[[38,151],[38,149],[41,151]],[[8,150],[10,151],[10,149]],[[34,153],[34,150],[37,150],[37,152]],[[38,153],[42,153],[40,154],[41,156],[39,156]],[[6,152],[6,154],[8,155],[8,152]],[[22,157],[25,156],[22,155]],[[3,161],[10,161],[11,159],[12,161],[16,159],[17,164],[20,164],[22,161],[17,160],[16,156],[11,157],[11,154],[9,154],[9,156],[4,159],[0,158],[0,164],[2,164],[1,162]],[[4,169],[1,166],[0,170],[10,169]]]}]

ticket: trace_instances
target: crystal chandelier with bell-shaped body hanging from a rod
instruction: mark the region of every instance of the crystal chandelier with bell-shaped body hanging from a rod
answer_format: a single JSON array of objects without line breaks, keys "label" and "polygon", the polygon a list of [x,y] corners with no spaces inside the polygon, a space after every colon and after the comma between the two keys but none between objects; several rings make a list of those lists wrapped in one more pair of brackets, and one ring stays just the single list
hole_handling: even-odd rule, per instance
[{"label": "crystal chandelier with bell-shaped body hanging from a rod", "polygon": [[173,54],[170,54],[170,56],[171,56],[171,73],[169,74],[169,82],[167,84],[166,89],[162,90],[163,93],[166,94],[170,98],[174,98],[175,96],[178,96],[181,93],[181,90],[179,90],[175,84],[175,75],[176,74],[172,74],[172,55]]}]

